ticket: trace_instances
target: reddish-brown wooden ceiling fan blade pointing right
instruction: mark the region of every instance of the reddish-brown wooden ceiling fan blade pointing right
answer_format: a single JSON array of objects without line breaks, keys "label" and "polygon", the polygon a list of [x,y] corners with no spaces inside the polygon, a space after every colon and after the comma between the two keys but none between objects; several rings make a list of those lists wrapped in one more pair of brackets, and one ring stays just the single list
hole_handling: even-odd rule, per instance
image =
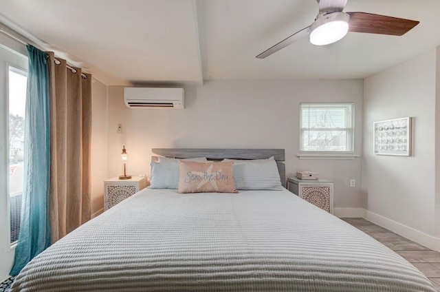
[{"label": "reddish-brown wooden ceiling fan blade pointing right", "polygon": [[365,12],[347,12],[350,14],[349,31],[369,34],[390,34],[401,36],[414,28],[419,21],[399,19],[385,15]]}]

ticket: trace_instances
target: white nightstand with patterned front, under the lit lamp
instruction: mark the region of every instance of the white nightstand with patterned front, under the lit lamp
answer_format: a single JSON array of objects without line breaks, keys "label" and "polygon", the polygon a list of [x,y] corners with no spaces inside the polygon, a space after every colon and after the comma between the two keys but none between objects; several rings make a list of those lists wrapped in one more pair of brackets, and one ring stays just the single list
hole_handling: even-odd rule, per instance
[{"label": "white nightstand with patterned front, under the lit lamp", "polygon": [[146,177],[133,176],[129,180],[120,180],[118,176],[104,180],[104,211],[122,200],[129,198],[146,187]]}]

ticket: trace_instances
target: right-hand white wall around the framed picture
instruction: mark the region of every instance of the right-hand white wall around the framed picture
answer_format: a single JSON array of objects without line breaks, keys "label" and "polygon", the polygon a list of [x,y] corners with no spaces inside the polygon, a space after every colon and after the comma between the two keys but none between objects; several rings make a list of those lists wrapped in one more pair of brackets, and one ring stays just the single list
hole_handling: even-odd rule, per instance
[{"label": "right-hand white wall around the framed picture", "polygon": [[[364,209],[434,236],[436,50],[364,80]],[[373,122],[414,117],[412,156],[373,154]]]}]

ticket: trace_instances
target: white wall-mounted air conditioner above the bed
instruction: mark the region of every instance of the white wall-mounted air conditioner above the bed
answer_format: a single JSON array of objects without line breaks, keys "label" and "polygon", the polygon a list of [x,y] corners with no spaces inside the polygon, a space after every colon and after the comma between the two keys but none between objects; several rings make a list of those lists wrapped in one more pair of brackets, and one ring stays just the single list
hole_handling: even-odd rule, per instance
[{"label": "white wall-mounted air conditioner above the bed", "polygon": [[184,108],[184,89],[173,87],[125,87],[124,102],[132,109]]}]

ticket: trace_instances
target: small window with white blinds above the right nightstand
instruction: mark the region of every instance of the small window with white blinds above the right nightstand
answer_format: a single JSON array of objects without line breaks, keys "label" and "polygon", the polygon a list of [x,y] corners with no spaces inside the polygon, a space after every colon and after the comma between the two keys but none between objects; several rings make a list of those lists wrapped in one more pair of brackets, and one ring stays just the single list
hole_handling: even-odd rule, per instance
[{"label": "small window with white blinds above the right nightstand", "polygon": [[300,151],[353,153],[353,103],[301,103]]}]

